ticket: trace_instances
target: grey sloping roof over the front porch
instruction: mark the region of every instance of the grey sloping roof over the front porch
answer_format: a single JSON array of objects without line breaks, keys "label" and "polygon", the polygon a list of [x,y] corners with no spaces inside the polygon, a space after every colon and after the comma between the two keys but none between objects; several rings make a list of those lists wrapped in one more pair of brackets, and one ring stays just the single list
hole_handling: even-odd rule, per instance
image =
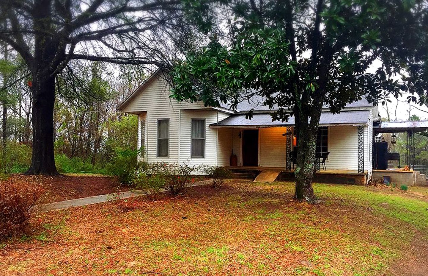
[{"label": "grey sloping roof over the front porch", "polygon": [[[367,125],[369,122],[369,110],[342,111],[339,114],[322,112],[320,126],[331,125]],[[245,119],[245,114],[237,114],[227,117],[218,123],[213,123],[211,127],[269,127],[269,126],[293,126],[294,117],[288,119],[288,122],[273,121],[270,114],[253,114],[251,120]]]}]

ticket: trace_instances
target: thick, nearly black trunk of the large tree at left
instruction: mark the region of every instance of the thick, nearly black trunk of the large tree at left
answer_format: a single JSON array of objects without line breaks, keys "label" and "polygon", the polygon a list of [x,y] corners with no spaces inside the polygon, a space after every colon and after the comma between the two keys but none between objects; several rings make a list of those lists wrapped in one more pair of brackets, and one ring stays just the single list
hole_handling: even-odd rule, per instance
[{"label": "thick, nearly black trunk of the large tree at left", "polygon": [[55,77],[33,75],[33,156],[26,174],[57,175],[53,155]]}]

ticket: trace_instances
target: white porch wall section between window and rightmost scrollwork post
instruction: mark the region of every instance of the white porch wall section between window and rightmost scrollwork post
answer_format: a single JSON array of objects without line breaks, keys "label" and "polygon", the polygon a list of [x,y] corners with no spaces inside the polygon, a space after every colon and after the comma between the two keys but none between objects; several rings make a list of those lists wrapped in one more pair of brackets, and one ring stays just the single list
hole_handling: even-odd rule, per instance
[{"label": "white porch wall section between window and rightmost scrollwork post", "polygon": [[330,126],[328,128],[327,170],[358,170],[357,126]]}]

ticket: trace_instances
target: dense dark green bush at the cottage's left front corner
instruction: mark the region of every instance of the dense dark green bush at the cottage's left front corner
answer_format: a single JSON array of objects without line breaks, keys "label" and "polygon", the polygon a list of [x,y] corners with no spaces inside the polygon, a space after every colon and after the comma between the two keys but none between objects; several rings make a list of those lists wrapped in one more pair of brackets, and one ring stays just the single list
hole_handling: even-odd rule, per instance
[{"label": "dense dark green bush at the cottage's left front corner", "polygon": [[134,173],[138,167],[139,150],[117,150],[116,154],[106,165],[107,174],[117,177],[123,184],[131,184]]}]

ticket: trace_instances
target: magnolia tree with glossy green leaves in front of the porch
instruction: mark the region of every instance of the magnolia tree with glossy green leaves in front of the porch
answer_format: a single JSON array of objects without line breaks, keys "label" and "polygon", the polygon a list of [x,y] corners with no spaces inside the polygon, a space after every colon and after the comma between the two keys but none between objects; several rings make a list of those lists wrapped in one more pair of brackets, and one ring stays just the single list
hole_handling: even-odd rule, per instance
[{"label": "magnolia tree with glossy green leaves in front of the porch", "polygon": [[236,108],[256,93],[264,105],[279,107],[272,120],[294,116],[299,200],[316,201],[312,178],[324,105],[339,113],[363,97],[373,102],[402,92],[425,102],[425,1],[250,0],[224,10],[228,39],[213,34],[208,45],[178,61],[172,97]]}]

